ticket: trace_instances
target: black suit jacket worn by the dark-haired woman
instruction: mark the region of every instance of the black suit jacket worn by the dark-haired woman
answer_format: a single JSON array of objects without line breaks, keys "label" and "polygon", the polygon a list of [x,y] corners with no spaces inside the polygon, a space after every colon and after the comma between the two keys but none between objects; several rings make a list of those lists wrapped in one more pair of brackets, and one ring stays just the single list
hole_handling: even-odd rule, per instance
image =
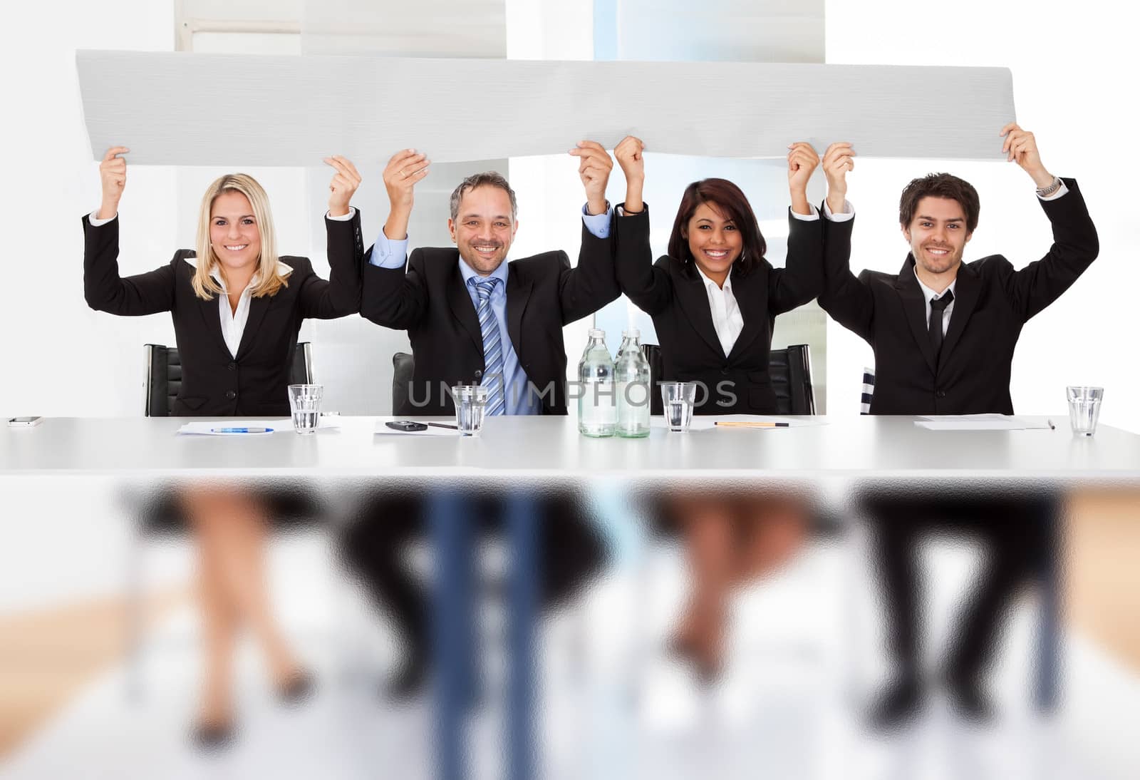
[{"label": "black suit jacket worn by the dark-haired woman", "polygon": [[[652,262],[649,205],[618,217],[616,262],[621,290],[653,318],[661,342],[661,380],[701,382],[697,414],[773,414],[776,397],[768,376],[776,315],[807,303],[823,283],[822,219],[788,214],[787,268],[759,258],[749,271],[732,269],[732,294],[743,328],[728,355],[712,324],[705,281],[691,261],[662,257]],[[703,398],[702,398],[703,396]]]}]

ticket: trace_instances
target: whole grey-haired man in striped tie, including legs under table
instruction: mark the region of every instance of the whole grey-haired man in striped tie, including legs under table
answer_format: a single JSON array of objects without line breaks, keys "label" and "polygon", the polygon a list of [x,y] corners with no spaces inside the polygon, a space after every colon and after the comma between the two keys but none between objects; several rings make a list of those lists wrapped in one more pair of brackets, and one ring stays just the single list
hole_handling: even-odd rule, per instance
[{"label": "whole grey-haired man in striped tie, including legs under table", "polygon": [[[567,354],[562,326],[593,314],[619,294],[605,184],[613,162],[600,144],[581,141],[586,189],[581,251],[570,267],[554,251],[506,261],[519,229],[514,192],[498,173],[477,173],[451,194],[447,220],[455,247],[416,249],[407,255],[413,188],[429,161],[398,152],[384,170],[391,210],[363,268],[360,312],[372,322],[406,328],[415,368],[407,408],[398,415],[448,415],[447,388],[488,387],[487,414],[567,414]],[[502,525],[502,495],[467,495],[472,525]],[[602,566],[604,545],[575,490],[536,498],[542,602],[559,603]],[[418,693],[430,667],[429,586],[408,559],[409,542],[423,533],[425,499],[414,485],[390,486],[363,502],[341,542],[344,560],[374,604],[394,623],[405,652],[384,694]]]}]

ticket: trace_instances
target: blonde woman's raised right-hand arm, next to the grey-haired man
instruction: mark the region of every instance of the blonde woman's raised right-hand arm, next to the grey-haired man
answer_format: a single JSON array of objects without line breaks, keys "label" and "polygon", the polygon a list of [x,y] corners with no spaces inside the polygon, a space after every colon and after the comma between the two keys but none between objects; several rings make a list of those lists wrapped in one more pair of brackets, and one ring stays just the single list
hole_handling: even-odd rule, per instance
[{"label": "blonde woman's raised right-hand arm, next to the grey-haired man", "polygon": [[302,282],[301,314],[317,319],[335,319],[360,310],[360,262],[364,242],[360,212],[351,206],[360,186],[360,173],[347,157],[333,155],[325,163],[335,171],[328,182],[327,236],[328,281],[309,275]]}]

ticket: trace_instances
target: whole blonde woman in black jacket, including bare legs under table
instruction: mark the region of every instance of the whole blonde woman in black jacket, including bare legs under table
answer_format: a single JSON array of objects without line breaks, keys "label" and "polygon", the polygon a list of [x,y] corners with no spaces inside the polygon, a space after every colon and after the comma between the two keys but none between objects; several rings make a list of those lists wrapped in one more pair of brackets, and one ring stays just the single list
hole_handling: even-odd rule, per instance
[{"label": "whole blonde woman in black jacket, including bare legs under table", "polygon": [[[329,184],[328,281],[306,258],[280,257],[269,200],[252,177],[217,179],[202,198],[196,250],[179,250],[156,270],[119,274],[119,201],[129,149],[107,149],[99,165],[103,202],[83,217],[83,293],[88,306],[115,315],[170,311],[182,364],[171,414],[211,417],[287,417],[286,385],[301,320],[360,310],[360,214],[349,201],[360,174],[344,157],[325,160]],[[228,742],[234,733],[233,644],[243,625],[269,661],[286,699],[299,699],[311,679],[290,649],[269,609],[263,578],[267,496],[238,488],[185,490],[181,509],[198,541],[205,681],[195,739]]]}]

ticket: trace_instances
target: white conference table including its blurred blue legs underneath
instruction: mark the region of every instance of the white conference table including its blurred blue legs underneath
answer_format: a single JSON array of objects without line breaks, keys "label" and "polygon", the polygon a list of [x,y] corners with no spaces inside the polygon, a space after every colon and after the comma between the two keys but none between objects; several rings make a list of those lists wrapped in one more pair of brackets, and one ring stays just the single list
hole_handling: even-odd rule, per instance
[{"label": "white conference table including its blurred blue legs underneath", "polygon": [[[733,417],[740,420],[742,417]],[[1066,417],[1056,429],[935,431],[914,417],[787,417],[787,429],[707,428],[671,433],[654,420],[644,439],[588,439],[572,417],[491,417],[482,434],[375,433],[391,417],[339,417],[339,428],[312,436],[291,430],[266,436],[179,436],[193,419],[48,419],[31,429],[0,430],[0,485],[6,479],[108,476],[129,480],[287,478],[316,482],[348,478],[422,481],[429,491],[439,587],[433,619],[439,777],[464,774],[464,710],[470,700],[462,574],[470,554],[463,485],[526,487],[547,480],[676,486],[685,480],[748,480],[756,485],[805,481],[844,489],[881,484],[918,486],[1029,486],[1053,490],[1089,485],[1140,486],[1140,436],[1102,425],[1094,437],[1074,437]],[[427,421],[430,419],[422,419]],[[437,419],[443,421],[442,419]],[[1029,417],[1043,424],[1044,417]],[[701,426],[706,426],[701,429]],[[432,429],[433,431],[438,429]],[[417,440],[418,439],[418,440]],[[454,488],[454,489],[451,489]],[[969,488],[968,488],[969,489]],[[536,766],[534,626],[538,615],[534,490],[510,490],[512,544],[508,648],[508,777],[531,778]],[[1048,533],[1043,530],[1043,533]],[[1048,575],[1036,696],[1056,701],[1056,572]]]}]

